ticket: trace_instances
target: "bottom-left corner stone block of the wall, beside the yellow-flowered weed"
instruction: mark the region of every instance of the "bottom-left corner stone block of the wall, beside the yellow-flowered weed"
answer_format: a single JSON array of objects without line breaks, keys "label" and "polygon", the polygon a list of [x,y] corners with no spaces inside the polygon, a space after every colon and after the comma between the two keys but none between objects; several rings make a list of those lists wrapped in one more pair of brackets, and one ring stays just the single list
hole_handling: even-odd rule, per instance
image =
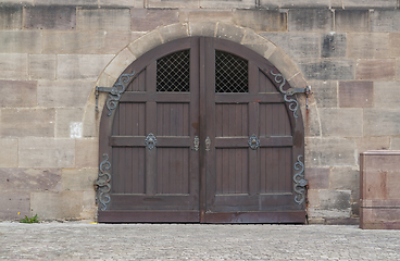
[{"label": "bottom-left corner stone block of the wall, beside the yellow-flowered weed", "polygon": [[0,220],[22,220],[30,216],[28,192],[1,192]]}]

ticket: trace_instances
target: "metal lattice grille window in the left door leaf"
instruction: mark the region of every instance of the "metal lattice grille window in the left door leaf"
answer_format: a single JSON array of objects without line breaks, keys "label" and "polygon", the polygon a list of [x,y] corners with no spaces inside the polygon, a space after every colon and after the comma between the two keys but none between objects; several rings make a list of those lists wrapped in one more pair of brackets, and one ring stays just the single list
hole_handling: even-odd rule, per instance
[{"label": "metal lattice grille window in the left door leaf", "polygon": [[189,69],[189,50],[157,60],[157,91],[190,91]]}]

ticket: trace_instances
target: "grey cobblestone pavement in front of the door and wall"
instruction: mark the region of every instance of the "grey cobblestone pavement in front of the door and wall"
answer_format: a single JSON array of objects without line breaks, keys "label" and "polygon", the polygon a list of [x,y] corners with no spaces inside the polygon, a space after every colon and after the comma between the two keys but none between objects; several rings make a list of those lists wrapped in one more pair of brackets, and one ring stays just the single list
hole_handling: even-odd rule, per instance
[{"label": "grey cobblestone pavement in front of the door and wall", "polygon": [[400,231],[334,225],[0,223],[8,260],[400,260]]}]

